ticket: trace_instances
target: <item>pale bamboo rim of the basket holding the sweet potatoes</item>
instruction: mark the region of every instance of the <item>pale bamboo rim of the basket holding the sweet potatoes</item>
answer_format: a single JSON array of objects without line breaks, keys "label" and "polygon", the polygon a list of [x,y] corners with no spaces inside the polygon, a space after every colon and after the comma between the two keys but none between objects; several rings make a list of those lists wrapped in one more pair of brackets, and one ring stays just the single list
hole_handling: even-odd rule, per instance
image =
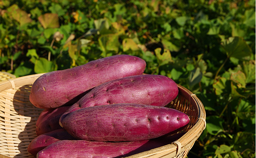
[{"label": "pale bamboo rim of the basket holding the sweet potatoes", "polygon": [[[42,74],[34,74],[34,75],[27,75],[24,77],[18,77],[9,79],[6,81],[0,82],[0,92],[8,89],[15,89],[15,87],[20,87],[24,85],[33,84],[34,81],[40,77]],[[179,95],[184,95],[191,104],[196,105],[196,109],[198,112],[198,119],[195,125],[189,129],[189,131],[186,132],[181,138],[179,138],[177,141],[161,146],[149,151],[137,153],[132,156],[128,156],[126,158],[144,158],[148,156],[154,157],[157,153],[168,153],[172,154],[173,156],[177,156],[179,153],[186,150],[187,147],[193,146],[195,141],[198,139],[198,137],[201,135],[203,130],[206,128],[206,111],[204,109],[203,103],[200,101],[200,99],[192,92],[190,92],[188,89],[184,88],[183,86],[177,84],[179,89]],[[0,154],[0,158],[9,158],[9,156]]]}]

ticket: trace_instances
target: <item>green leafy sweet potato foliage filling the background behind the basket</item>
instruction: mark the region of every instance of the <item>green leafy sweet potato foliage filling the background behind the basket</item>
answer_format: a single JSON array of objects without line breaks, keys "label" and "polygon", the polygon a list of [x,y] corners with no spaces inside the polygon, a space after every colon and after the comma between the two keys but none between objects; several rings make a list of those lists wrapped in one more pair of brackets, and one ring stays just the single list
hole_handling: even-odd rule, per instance
[{"label": "green leafy sweet potato foliage filling the background behind the basket", "polygon": [[207,126],[188,157],[255,157],[255,0],[0,0],[0,70],[17,77],[116,54],[181,84]]}]

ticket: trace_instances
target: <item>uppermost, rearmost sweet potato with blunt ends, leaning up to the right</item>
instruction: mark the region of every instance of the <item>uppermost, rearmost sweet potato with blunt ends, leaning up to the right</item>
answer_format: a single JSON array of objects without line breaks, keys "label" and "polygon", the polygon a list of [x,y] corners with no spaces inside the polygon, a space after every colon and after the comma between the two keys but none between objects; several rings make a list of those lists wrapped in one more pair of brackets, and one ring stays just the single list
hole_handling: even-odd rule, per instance
[{"label": "uppermost, rearmost sweet potato with blunt ends, leaning up to the right", "polygon": [[140,75],[145,67],[146,62],[139,57],[121,54],[48,72],[34,82],[29,99],[38,108],[57,108],[70,101],[75,103],[72,99],[107,81]]}]

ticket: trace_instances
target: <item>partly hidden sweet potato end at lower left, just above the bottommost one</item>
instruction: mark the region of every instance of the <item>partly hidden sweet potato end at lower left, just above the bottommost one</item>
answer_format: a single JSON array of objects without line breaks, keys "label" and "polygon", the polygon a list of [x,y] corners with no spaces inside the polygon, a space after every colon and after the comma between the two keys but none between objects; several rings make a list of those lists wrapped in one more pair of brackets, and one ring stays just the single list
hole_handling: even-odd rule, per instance
[{"label": "partly hidden sweet potato end at lower left, just above the bottommost one", "polygon": [[40,150],[59,140],[76,140],[64,128],[41,134],[34,138],[27,147],[27,151],[36,156]]}]

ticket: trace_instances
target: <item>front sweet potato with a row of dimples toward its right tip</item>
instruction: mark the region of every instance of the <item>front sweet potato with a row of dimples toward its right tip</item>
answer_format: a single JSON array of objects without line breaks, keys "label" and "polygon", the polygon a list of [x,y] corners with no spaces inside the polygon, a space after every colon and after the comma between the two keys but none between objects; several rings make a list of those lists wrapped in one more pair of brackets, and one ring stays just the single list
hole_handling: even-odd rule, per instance
[{"label": "front sweet potato with a row of dimples toward its right tip", "polygon": [[63,119],[73,137],[88,141],[138,141],[157,138],[189,123],[181,111],[141,104],[81,108]]}]

